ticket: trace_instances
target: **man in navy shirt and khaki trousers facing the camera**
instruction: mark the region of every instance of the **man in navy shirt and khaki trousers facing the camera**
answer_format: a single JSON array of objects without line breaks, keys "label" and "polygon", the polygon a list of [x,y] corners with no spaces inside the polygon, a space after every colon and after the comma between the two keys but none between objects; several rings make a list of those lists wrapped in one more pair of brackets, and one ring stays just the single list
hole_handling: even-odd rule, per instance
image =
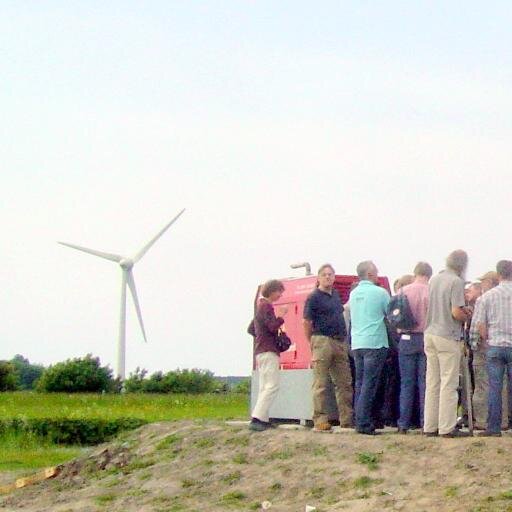
[{"label": "man in navy shirt and khaki trousers facing the camera", "polygon": [[352,382],[348,360],[343,304],[333,288],[331,265],[318,271],[318,287],[304,306],[304,333],[311,347],[313,366],[313,422],[315,430],[329,431],[327,390],[329,377],[336,393],[341,427],[352,426]]}]

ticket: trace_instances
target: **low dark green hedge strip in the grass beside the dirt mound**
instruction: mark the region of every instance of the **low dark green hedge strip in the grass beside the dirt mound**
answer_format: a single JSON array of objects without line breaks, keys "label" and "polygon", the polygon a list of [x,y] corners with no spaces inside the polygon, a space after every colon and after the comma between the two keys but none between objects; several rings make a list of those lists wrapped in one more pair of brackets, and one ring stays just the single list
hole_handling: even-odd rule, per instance
[{"label": "low dark green hedge strip in the grass beside the dirt mound", "polygon": [[132,430],[146,423],[138,418],[13,418],[0,420],[0,435],[8,432],[31,433],[56,444],[94,445],[108,441],[123,430]]}]

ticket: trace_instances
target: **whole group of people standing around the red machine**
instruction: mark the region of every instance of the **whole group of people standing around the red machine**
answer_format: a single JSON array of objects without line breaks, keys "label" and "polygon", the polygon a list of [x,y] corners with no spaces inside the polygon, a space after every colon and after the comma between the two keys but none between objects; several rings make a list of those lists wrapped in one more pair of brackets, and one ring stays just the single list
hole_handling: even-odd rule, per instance
[{"label": "whole group of people standing around the red machine", "polygon": [[[377,435],[384,420],[400,434],[419,427],[426,436],[448,438],[470,435],[461,429],[467,416],[473,417],[481,436],[501,436],[502,428],[511,426],[512,261],[499,261],[495,272],[475,283],[464,280],[467,263],[464,251],[453,251],[439,274],[432,277],[432,267],[419,262],[413,275],[395,282],[395,294],[405,295],[414,317],[414,326],[403,330],[386,320],[390,295],[379,285],[372,261],[357,266],[359,280],[346,304],[334,288],[332,265],[320,267],[303,315],[312,355],[315,430],[332,428],[330,381],[340,426],[360,434]],[[251,324],[259,370],[251,430],[270,427],[268,413],[279,390],[276,339],[287,311],[274,311],[272,303],[283,291],[277,280],[263,286]],[[468,361],[471,378],[461,380]],[[508,415],[502,414],[503,404]]]}]

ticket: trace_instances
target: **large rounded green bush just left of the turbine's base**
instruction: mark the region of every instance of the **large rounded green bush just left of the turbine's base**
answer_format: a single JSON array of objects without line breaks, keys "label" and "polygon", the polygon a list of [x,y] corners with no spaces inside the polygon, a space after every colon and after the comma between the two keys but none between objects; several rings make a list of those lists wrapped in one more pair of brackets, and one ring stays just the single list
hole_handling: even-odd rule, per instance
[{"label": "large rounded green bush just left of the turbine's base", "polygon": [[47,368],[37,383],[38,391],[83,393],[114,391],[116,381],[108,366],[100,366],[98,357],[68,359]]}]

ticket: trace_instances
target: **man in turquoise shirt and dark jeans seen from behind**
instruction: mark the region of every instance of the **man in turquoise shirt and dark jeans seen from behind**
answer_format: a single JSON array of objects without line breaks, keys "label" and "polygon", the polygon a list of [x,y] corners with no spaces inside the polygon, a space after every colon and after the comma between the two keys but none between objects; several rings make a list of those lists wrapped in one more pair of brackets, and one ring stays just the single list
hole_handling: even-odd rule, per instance
[{"label": "man in turquoise shirt and dark jeans seen from behind", "polygon": [[352,353],[356,366],[356,431],[375,435],[372,406],[388,352],[384,318],[389,294],[378,286],[378,270],[372,261],[357,266],[360,283],[350,293]]}]

